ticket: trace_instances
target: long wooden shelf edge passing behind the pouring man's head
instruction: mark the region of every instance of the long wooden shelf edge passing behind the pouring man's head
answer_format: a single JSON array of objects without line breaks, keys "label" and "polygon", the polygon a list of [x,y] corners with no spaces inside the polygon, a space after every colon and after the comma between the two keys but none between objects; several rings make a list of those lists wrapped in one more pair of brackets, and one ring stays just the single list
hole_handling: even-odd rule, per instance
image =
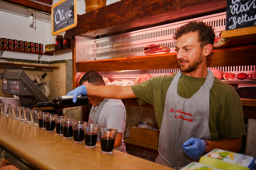
[{"label": "long wooden shelf edge passing behind the pouring man's head", "polygon": [[[256,45],[216,48],[207,56],[207,67],[256,65]],[[243,54],[241,56],[241,54]],[[246,56],[246,57],[243,57]],[[94,60],[76,63],[77,72],[179,68],[176,53]]]}]

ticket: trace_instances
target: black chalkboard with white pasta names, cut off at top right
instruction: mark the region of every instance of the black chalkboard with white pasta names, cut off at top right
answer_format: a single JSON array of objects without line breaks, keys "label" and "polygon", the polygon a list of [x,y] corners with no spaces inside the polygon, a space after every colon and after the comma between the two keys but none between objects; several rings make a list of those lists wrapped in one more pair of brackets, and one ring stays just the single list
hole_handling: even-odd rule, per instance
[{"label": "black chalkboard with white pasta names, cut off at top right", "polygon": [[255,0],[227,0],[226,30],[256,25]]}]

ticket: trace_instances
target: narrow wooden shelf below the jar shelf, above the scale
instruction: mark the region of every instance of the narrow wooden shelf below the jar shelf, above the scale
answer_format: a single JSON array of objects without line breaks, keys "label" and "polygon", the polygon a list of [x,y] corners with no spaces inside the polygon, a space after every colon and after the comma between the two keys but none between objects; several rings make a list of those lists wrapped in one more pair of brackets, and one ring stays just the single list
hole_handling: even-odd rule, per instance
[{"label": "narrow wooden shelf below the jar shelf, above the scale", "polygon": [[52,72],[54,69],[59,67],[41,66],[41,65],[30,65],[30,64],[15,64],[12,62],[0,62],[0,68],[4,69],[23,69],[33,71],[49,71]]}]

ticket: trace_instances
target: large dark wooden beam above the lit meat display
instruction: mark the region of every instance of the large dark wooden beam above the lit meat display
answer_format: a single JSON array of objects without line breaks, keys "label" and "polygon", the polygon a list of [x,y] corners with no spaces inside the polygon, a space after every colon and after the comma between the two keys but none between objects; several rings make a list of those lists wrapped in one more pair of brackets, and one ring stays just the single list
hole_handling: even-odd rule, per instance
[{"label": "large dark wooden beam above the lit meat display", "polygon": [[226,0],[121,0],[78,15],[66,37],[105,37],[225,12],[226,6]]}]

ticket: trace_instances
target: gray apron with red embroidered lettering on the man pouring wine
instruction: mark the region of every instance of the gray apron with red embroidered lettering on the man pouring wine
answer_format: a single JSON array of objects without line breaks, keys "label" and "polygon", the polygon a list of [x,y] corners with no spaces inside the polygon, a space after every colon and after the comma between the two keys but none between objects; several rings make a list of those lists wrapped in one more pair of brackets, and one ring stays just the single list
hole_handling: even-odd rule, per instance
[{"label": "gray apron with red embroidered lettering on the man pouring wine", "polygon": [[[203,86],[191,97],[178,95],[178,81],[182,74],[177,73],[171,82],[165,100],[164,114],[159,134],[159,156],[156,163],[180,169],[196,161],[185,155],[182,144],[191,137],[210,140],[209,95],[214,82],[210,69]],[[186,89],[189,90],[189,89]]]}]

